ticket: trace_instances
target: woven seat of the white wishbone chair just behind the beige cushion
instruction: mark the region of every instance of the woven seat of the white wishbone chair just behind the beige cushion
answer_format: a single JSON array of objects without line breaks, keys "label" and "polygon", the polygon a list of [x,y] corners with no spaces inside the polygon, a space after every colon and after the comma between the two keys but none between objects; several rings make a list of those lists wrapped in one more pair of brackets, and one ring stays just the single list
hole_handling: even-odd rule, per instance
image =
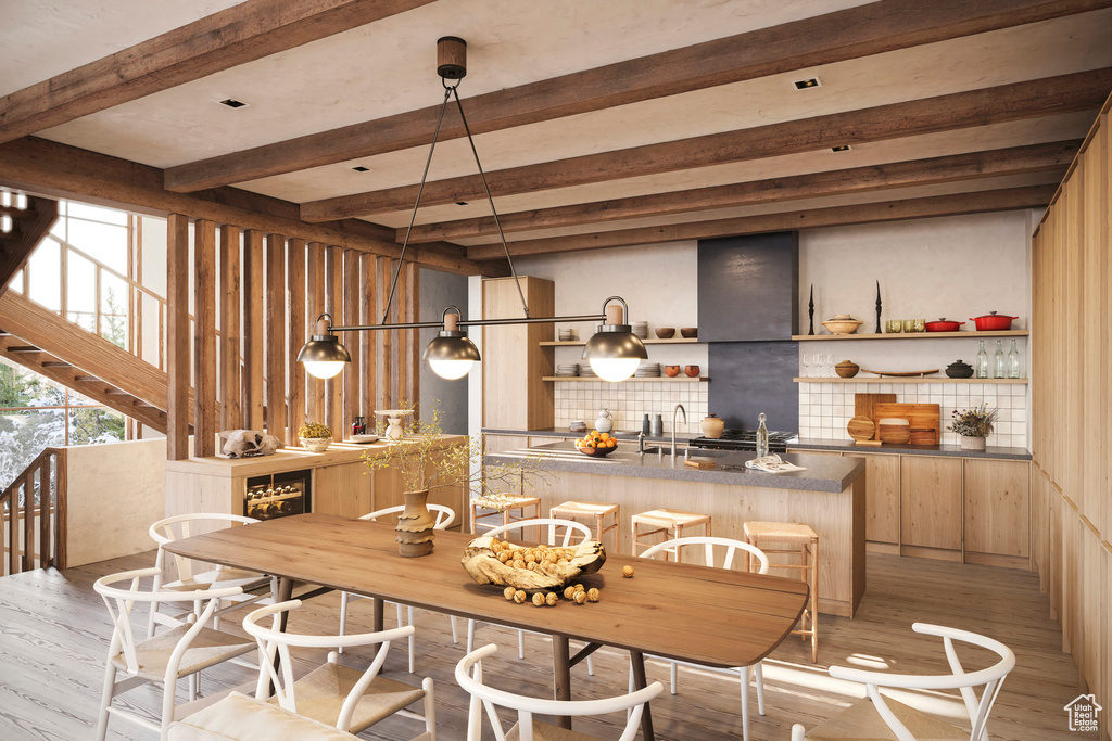
[{"label": "woven seat of the white wishbone chair just behind the beige cushion", "polygon": [[[297,714],[335,728],[344,700],[363,674],[363,671],[340,664],[326,663],[318,667],[294,683]],[[359,699],[348,730],[359,733],[424,697],[425,690],[420,688],[376,677]],[[278,704],[278,699],[271,698],[270,702]]]}]

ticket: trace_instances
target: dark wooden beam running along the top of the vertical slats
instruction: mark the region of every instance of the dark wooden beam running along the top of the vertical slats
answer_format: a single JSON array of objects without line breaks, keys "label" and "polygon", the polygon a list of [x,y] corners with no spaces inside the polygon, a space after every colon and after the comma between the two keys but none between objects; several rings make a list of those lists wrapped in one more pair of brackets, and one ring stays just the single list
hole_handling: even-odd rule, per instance
[{"label": "dark wooden beam running along the top of the vertical slats", "polygon": [[[393,229],[354,220],[327,226],[304,223],[298,219],[296,203],[238,188],[188,196],[171,193],[162,188],[162,171],[158,168],[37,137],[0,144],[0,184],[158,217],[182,213],[389,258],[400,254]],[[468,261],[455,244],[421,244],[407,251],[406,259],[464,276],[509,274],[504,262],[488,267]]]}]

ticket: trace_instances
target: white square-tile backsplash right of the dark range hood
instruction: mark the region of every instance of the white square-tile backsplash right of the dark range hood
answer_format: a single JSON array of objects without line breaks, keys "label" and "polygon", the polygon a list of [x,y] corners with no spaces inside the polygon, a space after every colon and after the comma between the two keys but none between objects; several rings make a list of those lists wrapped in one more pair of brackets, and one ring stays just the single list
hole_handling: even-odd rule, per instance
[{"label": "white square-tile backsplash right of the dark range hood", "polygon": [[854,384],[852,391],[840,383],[801,383],[800,437],[848,440],[845,428],[853,419],[854,393],[894,393],[902,403],[940,404],[942,442],[955,445],[959,435],[946,430],[951,412],[987,403],[990,409],[1000,410],[989,444],[1027,447],[1027,387],[1022,383],[861,383]]}]

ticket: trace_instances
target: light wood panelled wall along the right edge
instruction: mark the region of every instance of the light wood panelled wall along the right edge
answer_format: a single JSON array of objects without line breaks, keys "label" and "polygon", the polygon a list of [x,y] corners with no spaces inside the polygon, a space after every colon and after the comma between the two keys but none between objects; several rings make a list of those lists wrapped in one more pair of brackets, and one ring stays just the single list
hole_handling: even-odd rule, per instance
[{"label": "light wood panelled wall along the right edge", "polygon": [[1034,237],[1030,373],[1032,559],[1062,623],[1063,649],[1105,709],[1112,707],[1110,106],[1112,98]]}]

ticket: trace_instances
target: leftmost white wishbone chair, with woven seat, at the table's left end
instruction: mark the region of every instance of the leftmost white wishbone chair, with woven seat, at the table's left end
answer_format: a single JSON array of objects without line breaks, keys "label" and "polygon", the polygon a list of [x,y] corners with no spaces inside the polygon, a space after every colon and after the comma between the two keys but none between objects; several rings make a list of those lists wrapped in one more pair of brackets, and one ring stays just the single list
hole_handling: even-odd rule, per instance
[{"label": "leftmost white wishbone chair, with woven seat, at the table's left end", "polygon": [[[175,718],[175,693],[178,680],[189,677],[189,694],[197,699],[197,673],[214,664],[242,655],[255,649],[255,644],[239,635],[222,633],[207,627],[220,600],[238,595],[239,587],[202,589],[192,592],[140,591],[141,579],[153,578],[159,569],[138,569],[101,577],[93,589],[105,599],[112,621],[112,638],[108,647],[105,669],[105,687],[101,694],[100,712],[97,721],[97,739],[103,741],[108,732],[109,714],[120,715],[143,728],[157,731],[166,739],[167,730]],[[115,584],[130,580],[127,588]],[[188,601],[195,605],[188,622],[180,622],[170,630],[162,631],[143,641],[136,640],[131,625],[131,610],[136,602],[158,602],[168,600]],[[117,674],[125,672],[123,679]],[[128,690],[156,682],[162,684],[161,721],[155,723],[146,718],[112,707],[112,698]]]}]

